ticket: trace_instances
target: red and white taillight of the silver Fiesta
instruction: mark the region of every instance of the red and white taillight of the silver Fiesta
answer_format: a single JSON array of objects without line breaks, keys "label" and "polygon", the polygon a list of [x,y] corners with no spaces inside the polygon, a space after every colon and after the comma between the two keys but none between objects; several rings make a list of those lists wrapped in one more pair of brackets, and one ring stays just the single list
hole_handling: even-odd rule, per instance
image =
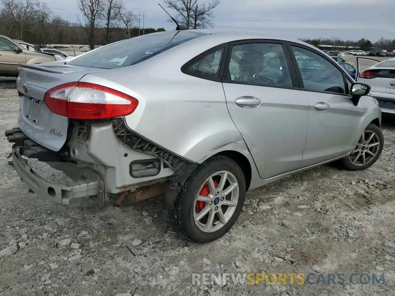
[{"label": "red and white taillight of the silver Fiesta", "polygon": [[48,90],[44,103],[53,113],[73,119],[104,119],[131,114],[139,102],[112,88],[69,82]]}]

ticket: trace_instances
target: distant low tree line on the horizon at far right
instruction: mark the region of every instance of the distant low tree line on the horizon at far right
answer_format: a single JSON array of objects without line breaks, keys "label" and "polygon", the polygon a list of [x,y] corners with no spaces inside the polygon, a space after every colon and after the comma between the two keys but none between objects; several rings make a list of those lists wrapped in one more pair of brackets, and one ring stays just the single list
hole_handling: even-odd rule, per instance
[{"label": "distant low tree line on the horizon at far right", "polygon": [[373,50],[386,50],[393,51],[395,49],[395,39],[387,39],[381,37],[375,42],[370,41],[369,39],[359,39],[357,41],[353,40],[340,40],[337,38],[330,39],[301,39],[315,47],[320,45],[332,45],[333,47],[342,46],[342,47],[360,47],[363,51],[373,51]]}]

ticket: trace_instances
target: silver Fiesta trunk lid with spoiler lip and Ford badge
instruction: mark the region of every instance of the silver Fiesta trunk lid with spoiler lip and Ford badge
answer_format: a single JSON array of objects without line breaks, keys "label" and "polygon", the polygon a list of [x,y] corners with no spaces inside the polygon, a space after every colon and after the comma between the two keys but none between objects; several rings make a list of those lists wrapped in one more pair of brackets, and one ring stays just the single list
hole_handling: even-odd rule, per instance
[{"label": "silver Fiesta trunk lid with spoiler lip and Ford badge", "polygon": [[[64,63],[64,62],[63,62]],[[47,90],[103,69],[64,64],[20,65],[17,79],[20,112],[18,126],[32,141],[59,151],[66,142],[69,120],[54,114],[44,103]]]}]

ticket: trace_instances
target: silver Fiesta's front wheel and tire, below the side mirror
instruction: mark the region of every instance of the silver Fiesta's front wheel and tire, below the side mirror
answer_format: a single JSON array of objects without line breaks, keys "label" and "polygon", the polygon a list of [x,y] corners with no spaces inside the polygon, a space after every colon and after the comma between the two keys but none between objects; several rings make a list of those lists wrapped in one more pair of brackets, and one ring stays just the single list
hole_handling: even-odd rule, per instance
[{"label": "silver Fiesta's front wheel and tire, below the side mirror", "polygon": [[[372,139],[369,142],[362,142],[363,139],[365,141],[369,140],[371,136]],[[374,146],[372,146],[373,144]],[[380,127],[375,124],[369,124],[359,139],[354,152],[341,160],[342,166],[347,170],[365,170],[377,161],[378,157],[381,155],[383,147],[384,136]],[[356,160],[355,157],[357,157]],[[365,163],[363,161],[364,159]]]}]

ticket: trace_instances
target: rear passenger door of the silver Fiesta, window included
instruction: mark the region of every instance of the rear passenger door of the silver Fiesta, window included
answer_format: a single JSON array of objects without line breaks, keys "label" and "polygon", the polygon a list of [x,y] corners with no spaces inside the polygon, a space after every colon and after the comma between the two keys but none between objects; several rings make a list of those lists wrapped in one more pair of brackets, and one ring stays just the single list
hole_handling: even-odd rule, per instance
[{"label": "rear passenger door of the silver Fiesta, window included", "polygon": [[231,43],[222,78],[229,114],[262,179],[298,169],[307,137],[308,100],[295,90],[296,73],[284,45]]}]

